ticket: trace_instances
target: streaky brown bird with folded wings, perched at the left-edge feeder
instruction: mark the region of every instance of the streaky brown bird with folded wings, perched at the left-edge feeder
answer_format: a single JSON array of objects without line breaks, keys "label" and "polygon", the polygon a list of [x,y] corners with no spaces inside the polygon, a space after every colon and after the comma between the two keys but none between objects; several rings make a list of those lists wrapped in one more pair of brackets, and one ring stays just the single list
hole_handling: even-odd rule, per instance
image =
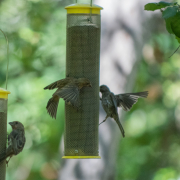
[{"label": "streaky brown bird with folded wings, perched at the left-edge feeder", "polygon": [[[25,131],[22,123],[13,121],[9,123],[12,127],[12,132],[8,135],[8,147],[6,152],[0,154],[0,162],[9,157],[9,160],[13,155],[19,154],[25,145]],[[8,164],[8,161],[6,163]]]}]

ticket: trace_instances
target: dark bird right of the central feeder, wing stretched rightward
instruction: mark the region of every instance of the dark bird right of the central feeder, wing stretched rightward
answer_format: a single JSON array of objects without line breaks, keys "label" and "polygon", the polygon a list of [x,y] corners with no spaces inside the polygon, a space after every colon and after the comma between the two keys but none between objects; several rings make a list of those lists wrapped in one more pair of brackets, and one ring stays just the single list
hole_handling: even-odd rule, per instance
[{"label": "dark bird right of the central feeder, wing stretched rightward", "polygon": [[106,85],[101,85],[100,92],[102,93],[102,98],[100,98],[100,100],[103,109],[107,114],[105,120],[101,123],[105,122],[108,117],[113,118],[118,124],[123,137],[125,137],[125,132],[119,120],[117,108],[122,107],[123,110],[129,111],[133,104],[138,101],[138,98],[146,98],[148,96],[148,91],[114,95]]}]

